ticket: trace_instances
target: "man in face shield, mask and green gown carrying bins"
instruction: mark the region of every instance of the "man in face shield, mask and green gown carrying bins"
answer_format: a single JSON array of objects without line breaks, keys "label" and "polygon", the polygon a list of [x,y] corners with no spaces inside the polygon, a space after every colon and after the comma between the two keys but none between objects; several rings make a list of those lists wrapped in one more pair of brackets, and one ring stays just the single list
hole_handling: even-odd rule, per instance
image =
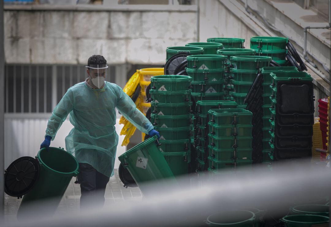
[{"label": "man in face shield, mask and green gown carrying bins", "polygon": [[79,163],[80,208],[105,202],[106,185],[114,174],[118,135],[115,108],[136,128],[149,136],[157,135],[153,125],[131,98],[114,83],[107,82],[108,65],[101,55],[87,61],[88,78],[70,87],[54,108],[40,149],[49,149],[51,140],[70,113],[74,126],[66,137],[66,149]]}]

